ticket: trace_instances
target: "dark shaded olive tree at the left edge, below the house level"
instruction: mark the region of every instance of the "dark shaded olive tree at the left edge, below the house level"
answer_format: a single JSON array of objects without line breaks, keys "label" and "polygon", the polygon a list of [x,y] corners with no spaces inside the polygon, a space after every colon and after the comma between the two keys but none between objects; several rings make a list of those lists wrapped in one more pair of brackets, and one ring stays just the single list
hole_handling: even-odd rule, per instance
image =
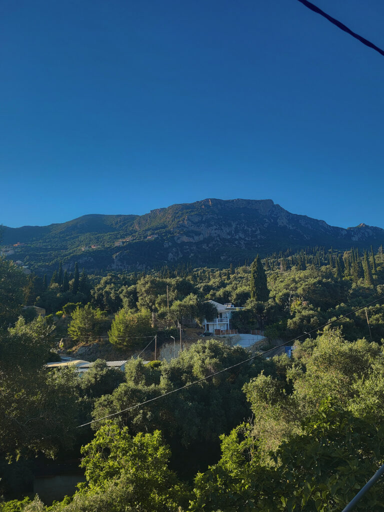
[{"label": "dark shaded olive tree at the left edge, below the house level", "polygon": [[73,441],[77,407],[72,376],[44,367],[52,335],[53,328],[41,317],[30,324],[19,318],[0,334],[0,451],[10,456],[52,456],[58,446]]}]

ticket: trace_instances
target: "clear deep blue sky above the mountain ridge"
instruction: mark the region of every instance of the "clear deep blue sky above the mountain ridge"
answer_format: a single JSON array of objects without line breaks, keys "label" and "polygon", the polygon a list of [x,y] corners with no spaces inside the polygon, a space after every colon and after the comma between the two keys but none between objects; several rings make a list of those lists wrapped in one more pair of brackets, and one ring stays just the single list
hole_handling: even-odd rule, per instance
[{"label": "clear deep blue sky above the mountain ridge", "polygon": [[[313,0],[384,47],[382,0]],[[384,57],[297,0],[5,0],[0,223],[272,199],[384,227]]]}]

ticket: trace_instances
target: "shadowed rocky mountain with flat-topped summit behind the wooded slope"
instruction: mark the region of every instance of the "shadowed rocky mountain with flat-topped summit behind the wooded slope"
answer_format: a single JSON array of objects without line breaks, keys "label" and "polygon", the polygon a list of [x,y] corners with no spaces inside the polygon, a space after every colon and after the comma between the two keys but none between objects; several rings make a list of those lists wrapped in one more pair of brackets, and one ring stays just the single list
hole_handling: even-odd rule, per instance
[{"label": "shadowed rocky mountain with flat-topped summit behind the wooded slope", "polygon": [[191,262],[194,266],[241,263],[307,246],[378,247],[384,230],[360,224],[348,229],[291,214],[272,200],[205,199],[152,210],[142,216],[89,215],[52,226],[6,228],[4,242],[25,242],[16,259],[28,256],[47,270],[58,260],[89,271],[142,270]]}]

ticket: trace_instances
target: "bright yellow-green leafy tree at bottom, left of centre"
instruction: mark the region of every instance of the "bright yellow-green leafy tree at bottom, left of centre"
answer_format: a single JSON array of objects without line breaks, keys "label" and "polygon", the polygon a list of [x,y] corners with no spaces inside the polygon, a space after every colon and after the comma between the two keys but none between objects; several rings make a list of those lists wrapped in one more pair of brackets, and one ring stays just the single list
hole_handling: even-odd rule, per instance
[{"label": "bright yellow-green leafy tree at bottom, left of centre", "polygon": [[112,479],[122,478],[138,510],[177,512],[179,504],[186,504],[185,488],[168,468],[170,450],[159,431],[132,437],[126,427],[120,430],[109,422],[81,453],[89,493],[102,492]]}]

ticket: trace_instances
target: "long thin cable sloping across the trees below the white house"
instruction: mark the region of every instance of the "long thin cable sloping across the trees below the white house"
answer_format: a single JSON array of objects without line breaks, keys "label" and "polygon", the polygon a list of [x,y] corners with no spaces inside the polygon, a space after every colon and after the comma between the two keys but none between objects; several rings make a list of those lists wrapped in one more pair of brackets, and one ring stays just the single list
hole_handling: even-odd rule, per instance
[{"label": "long thin cable sloping across the trees below the white house", "polygon": [[94,419],[92,421],[89,421],[88,423],[83,423],[82,425],[78,425],[77,428],[79,429],[81,426],[91,425],[92,423],[96,423],[98,421],[102,421],[103,419],[111,418],[112,416],[117,416],[118,414],[121,414],[121,413],[124,413],[124,412],[127,412],[127,411],[131,411],[132,409],[136,409],[137,407],[144,406],[145,404],[153,402],[155,400],[158,400],[159,398],[163,398],[164,396],[172,395],[173,393],[176,393],[176,392],[181,391],[183,389],[189,388],[190,386],[194,386],[195,384],[198,384],[199,382],[203,382],[204,380],[207,380],[207,379],[209,379],[211,377],[215,377],[216,375],[219,375],[220,373],[227,372],[228,370],[231,370],[232,368],[236,368],[238,366],[244,365],[246,362],[249,362],[252,359],[257,359],[258,357],[264,356],[268,352],[272,352],[273,350],[276,350],[276,349],[279,349],[281,347],[284,347],[288,343],[293,343],[297,339],[299,339],[299,338],[301,338],[303,336],[306,336],[307,334],[311,334],[314,331],[318,331],[318,330],[324,329],[324,327],[327,327],[327,326],[332,325],[332,324],[334,324],[336,322],[339,322],[341,319],[346,318],[347,316],[350,316],[353,313],[356,313],[357,311],[360,311],[361,309],[366,308],[367,306],[375,304],[378,301],[381,301],[382,298],[384,298],[384,295],[382,295],[381,297],[377,298],[374,301],[369,302],[368,304],[366,304],[364,306],[356,308],[353,311],[350,311],[349,313],[347,313],[347,314],[345,314],[343,316],[340,316],[339,318],[335,318],[334,320],[331,320],[330,322],[327,322],[326,324],[324,324],[324,325],[322,325],[320,327],[316,327],[315,329],[312,329],[311,331],[308,331],[306,333],[300,334],[299,336],[296,336],[295,338],[290,339],[288,342],[282,343],[281,345],[278,345],[277,347],[273,347],[273,348],[271,348],[269,350],[266,350],[262,354],[257,354],[257,355],[254,355],[252,357],[248,357],[248,359],[244,359],[243,361],[237,362],[235,365],[228,366],[227,368],[224,368],[223,370],[220,370],[220,371],[215,372],[215,373],[211,373],[210,375],[207,375],[206,377],[203,377],[203,378],[201,378],[199,380],[195,380],[194,382],[190,382],[189,384],[186,384],[185,386],[182,386],[181,388],[177,388],[177,389],[174,389],[172,391],[168,391],[167,393],[164,393],[163,395],[155,396],[154,398],[150,398],[149,400],[145,400],[145,402],[137,403],[135,406],[128,407],[126,409],[123,409],[122,411],[118,411],[117,413],[108,414],[107,416],[104,416],[102,418]]}]

